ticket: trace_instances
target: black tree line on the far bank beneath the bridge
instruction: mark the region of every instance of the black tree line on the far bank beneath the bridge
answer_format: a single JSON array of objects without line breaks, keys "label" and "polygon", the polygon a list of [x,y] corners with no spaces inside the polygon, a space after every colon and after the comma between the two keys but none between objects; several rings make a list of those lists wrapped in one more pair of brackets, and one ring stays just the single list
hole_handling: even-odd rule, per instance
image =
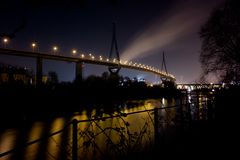
[{"label": "black tree line on the far bank beneath the bridge", "polygon": [[176,97],[179,92],[173,82],[167,81],[161,85],[150,86],[143,81],[112,75],[109,77],[90,76],[86,80],[76,80],[73,83],[49,82],[42,85],[5,83],[0,85],[0,94],[2,97],[17,98],[24,102],[36,100],[77,105]]}]

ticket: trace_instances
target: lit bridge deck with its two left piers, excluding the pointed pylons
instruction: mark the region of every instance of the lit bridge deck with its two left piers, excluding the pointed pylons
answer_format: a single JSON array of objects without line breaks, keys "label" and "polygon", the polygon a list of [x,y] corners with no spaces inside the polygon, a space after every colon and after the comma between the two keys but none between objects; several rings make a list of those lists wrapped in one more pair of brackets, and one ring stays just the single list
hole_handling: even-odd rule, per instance
[{"label": "lit bridge deck with its two left piers, excluding the pointed pylons", "polygon": [[88,64],[105,65],[110,67],[119,66],[120,68],[129,68],[129,69],[135,69],[139,71],[150,72],[160,76],[161,78],[165,78],[170,81],[175,81],[175,77],[172,74],[166,73],[164,71],[161,71],[149,65],[140,64],[132,61],[123,62],[121,60],[118,61],[116,58],[110,59],[102,56],[95,56],[92,54],[80,54],[79,56],[75,56],[75,55],[64,56],[64,55],[49,54],[45,52],[23,51],[23,50],[6,49],[6,48],[0,48],[0,54],[36,58],[36,61],[37,61],[36,73],[37,73],[37,79],[38,79],[37,82],[40,82],[40,79],[41,79],[40,77],[42,77],[42,65],[43,65],[42,61],[44,59],[75,62],[76,76],[81,76],[82,69],[83,69],[82,64],[88,63]]}]

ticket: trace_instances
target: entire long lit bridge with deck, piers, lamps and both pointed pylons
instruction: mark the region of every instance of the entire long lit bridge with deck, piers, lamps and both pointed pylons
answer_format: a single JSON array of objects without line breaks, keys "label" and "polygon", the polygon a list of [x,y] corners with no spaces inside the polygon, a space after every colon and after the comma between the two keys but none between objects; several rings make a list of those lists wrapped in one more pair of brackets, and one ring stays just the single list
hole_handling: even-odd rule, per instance
[{"label": "entire long lit bridge with deck, piers, lamps and both pointed pylons", "polygon": [[[37,47],[37,44],[34,42],[32,43],[32,51],[23,51],[18,49],[9,49],[6,47],[9,41],[9,37],[3,37],[4,48],[0,48],[0,54],[5,55],[14,55],[14,56],[21,56],[21,57],[32,57],[36,58],[36,83],[42,83],[42,65],[44,59],[50,60],[57,60],[57,61],[66,61],[66,62],[75,62],[76,63],[76,77],[82,78],[82,70],[83,70],[83,63],[89,64],[97,64],[97,65],[105,65],[108,66],[108,69],[111,74],[118,74],[121,68],[129,68],[135,69],[139,71],[145,71],[154,73],[164,81],[175,81],[175,77],[172,74],[167,72],[166,64],[165,64],[165,57],[163,53],[163,63],[162,69],[159,70],[154,68],[150,65],[140,64],[132,61],[121,61],[118,51],[117,45],[117,38],[116,38],[116,26],[113,23],[113,34],[112,34],[112,42],[111,42],[111,49],[108,58],[104,58],[102,56],[95,56],[92,54],[81,54],[80,56],[76,56],[77,50],[72,50],[71,56],[64,56],[57,54],[58,48],[57,46],[53,47],[53,53],[46,53],[46,52],[39,52],[34,50]],[[115,52],[114,52],[115,51]],[[115,53],[115,54],[114,54]],[[163,66],[165,71],[163,71]]]}]

